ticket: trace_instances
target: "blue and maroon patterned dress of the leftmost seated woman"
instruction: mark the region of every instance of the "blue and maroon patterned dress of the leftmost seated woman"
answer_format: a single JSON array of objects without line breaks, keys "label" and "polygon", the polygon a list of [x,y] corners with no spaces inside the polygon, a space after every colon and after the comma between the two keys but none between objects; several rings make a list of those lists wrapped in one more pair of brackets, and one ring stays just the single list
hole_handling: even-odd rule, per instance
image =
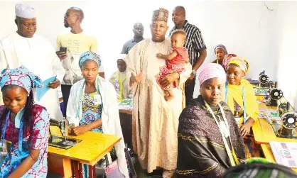
[{"label": "blue and maroon patterned dress of the leftmost seated woman", "polygon": [[[5,106],[0,106],[0,118],[5,113],[5,109]],[[1,178],[9,177],[9,174],[28,157],[29,150],[31,149],[40,150],[38,160],[21,178],[45,178],[48,174],[49,115],[43,106],[37,104],[32,106],[31,112],[32,117],[29,117],[29,126],[31,129],[27,133],[21,132],[23,134],[20,134],[20,130],[23,130],[22,125],[18,129],[10,119],[7,119],[7,123],[2,123],[1,128],[4,128],[5,123],[7,125],[5,140],[11,142],[11,150],[3,162],[0,163]]]}]

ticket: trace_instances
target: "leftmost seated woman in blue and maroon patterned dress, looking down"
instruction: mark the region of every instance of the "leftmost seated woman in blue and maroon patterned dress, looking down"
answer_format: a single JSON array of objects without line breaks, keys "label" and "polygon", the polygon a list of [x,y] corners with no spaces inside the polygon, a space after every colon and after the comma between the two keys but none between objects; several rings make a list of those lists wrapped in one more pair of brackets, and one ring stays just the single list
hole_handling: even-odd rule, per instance
[{"label": "leftmost seated woman in blue and maroon patterned dress, looking down", "polygon": [[32,88],[42,87],[41,79],[21,66],[6,69],[0,87],[4,100],[0,145],[6,145],[4,139],[11,142],[0,163],[0,177],[46,177],[49,115],[43,106],[34,104],[32,92]]}]

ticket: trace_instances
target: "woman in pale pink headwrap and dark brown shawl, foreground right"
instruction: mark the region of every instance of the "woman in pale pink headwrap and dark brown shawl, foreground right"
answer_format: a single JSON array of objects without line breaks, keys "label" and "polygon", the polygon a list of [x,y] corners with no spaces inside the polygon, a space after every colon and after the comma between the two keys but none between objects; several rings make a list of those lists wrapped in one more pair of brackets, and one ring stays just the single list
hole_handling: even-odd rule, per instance
[{"label": "woman in pale pink headwrap and dark brown shawl, foreground right", "polygon": [[224,101],[225,70],[207,64],[198,74],[200,95],[180,114],[178,177],[222,177],[245,160],[244,141]]}]

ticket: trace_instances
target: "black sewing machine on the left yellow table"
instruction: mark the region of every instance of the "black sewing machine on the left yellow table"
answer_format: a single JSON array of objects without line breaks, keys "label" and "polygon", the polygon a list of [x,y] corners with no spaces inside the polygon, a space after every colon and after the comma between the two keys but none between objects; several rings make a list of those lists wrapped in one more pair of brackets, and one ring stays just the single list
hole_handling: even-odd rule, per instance
[{"label": "black sewing machine on the left yellow table", "polygon": [[75,138],[68,138],[69,132],[69,121],[66,118],[63,118],[62,121],[57,121],[53,118],[50,119],[50,126],[57,126],[60,128],[62,137],[60,135],[52,135],[50,133],[50,138],[48,140],[48,145],[63,149],[72,148],[77,143],[80,143],[81,140]]}]

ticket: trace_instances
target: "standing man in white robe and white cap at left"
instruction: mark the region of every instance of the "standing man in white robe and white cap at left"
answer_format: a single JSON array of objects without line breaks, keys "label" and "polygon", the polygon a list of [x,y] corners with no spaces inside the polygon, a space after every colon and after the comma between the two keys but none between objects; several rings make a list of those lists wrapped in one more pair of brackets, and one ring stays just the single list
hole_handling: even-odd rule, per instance
[{"label": "standing man in white robe and white cap at left", "polygon": [[[48,110],[51,118],[63,118],[58,101],[57,87],[63,80],[65,70],[48,40],[36,35],[35,9],[26,4],[16,4],[16,26],[18,30],[0,41],[0,69],[24,65],[42,80],[57,75],[51,88],[38,102]],[[33,91],[34,99],[36,91]],[[2,94],[0,94],[2,98]],[[1,99],[2,101],[2,99]]]}]

